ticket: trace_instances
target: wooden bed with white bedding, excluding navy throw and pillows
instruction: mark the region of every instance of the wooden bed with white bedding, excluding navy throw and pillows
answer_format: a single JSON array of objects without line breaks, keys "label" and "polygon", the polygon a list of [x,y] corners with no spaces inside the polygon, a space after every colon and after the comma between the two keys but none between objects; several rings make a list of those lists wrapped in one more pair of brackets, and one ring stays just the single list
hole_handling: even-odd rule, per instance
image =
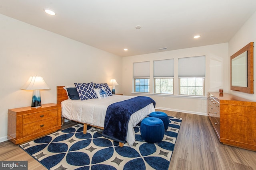
[{"label": "wooden bed with white bedding, excluding navy throw and pillows", "polygon": [[[135,98],[135,96],[113,95],[104,99],[93,98],[89,100],[71,100],[69,99],[66,90],[64,90],[64,87],[65,86],[57,86],[57,104],[62,105],[62,117],[84,124],[84,133],[86,133],[88,125],[98,129],[104,129],[108,106],[119,102],[122,103],[124,100],[134,100]],[[151,103],[130,116],[126,136],[126,142],[130,147],[132,147],[135,142],[135,132],[133,127],[153,111],[155,111],[154,104]],[[123,147],[124,142],[119,141],[119,145],[120,147]]]}]

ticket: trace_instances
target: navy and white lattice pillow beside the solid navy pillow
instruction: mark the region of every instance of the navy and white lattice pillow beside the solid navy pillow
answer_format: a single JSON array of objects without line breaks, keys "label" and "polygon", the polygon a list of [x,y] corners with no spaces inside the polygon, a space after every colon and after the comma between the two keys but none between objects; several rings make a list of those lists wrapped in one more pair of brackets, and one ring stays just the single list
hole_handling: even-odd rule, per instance
[{"label": "navy and white lattice pillow beside the solid navy pillow", "polygon": [[90,83],[74,83],[76,86],[76,91],[78,92],[80,100],[87,100],[97,98],[94,92],[94,84]]}]

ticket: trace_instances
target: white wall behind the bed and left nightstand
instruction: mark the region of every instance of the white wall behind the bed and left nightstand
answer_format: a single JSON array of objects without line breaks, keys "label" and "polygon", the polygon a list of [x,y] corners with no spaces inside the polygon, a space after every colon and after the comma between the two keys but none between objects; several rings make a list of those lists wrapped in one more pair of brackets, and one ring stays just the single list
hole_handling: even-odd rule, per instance
[{"label": "white wall behind the bed and left nightstand", "polygon": [[51,90],[42,104],[56,103],[56,86],[109,82],[122,92],[122,58],[0,14],[0,142],[7,140],[8,109],[31,106],[29,76],[42,76]]}]

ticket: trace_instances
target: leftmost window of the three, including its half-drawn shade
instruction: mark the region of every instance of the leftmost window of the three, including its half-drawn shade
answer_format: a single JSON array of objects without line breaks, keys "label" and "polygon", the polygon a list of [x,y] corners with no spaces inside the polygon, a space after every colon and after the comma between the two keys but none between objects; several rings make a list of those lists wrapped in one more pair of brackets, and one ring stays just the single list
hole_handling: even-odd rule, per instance
[{"label": "leftmost window of the three, including its half-drawn shade", "polygon": [[133,63],[134,92],[150,92],[149,74],[149,61]]}]

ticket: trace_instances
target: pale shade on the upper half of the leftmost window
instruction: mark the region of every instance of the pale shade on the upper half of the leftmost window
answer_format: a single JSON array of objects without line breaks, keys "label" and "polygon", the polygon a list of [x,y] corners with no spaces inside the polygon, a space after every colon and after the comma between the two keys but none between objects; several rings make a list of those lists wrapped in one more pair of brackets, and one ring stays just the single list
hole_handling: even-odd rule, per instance
[{"label": "pale shade on the upper half of the leftmost window", "polygon": [[133,76],[140,77],[149,77],[150,75],[150,63],[149,61],[133,63]]}]

